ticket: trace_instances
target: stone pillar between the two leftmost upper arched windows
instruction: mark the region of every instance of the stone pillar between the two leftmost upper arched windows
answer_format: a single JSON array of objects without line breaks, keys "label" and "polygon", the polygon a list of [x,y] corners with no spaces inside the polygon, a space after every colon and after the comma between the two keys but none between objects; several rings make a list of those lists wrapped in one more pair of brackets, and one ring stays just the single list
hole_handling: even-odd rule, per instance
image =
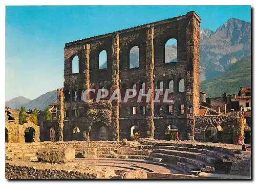
[{"label": "stone pillar between the two leftmost upper arched windows", "polygon": [[[90,89],[90,44],[83,46],[83,91]],[[90,98],[90,93],[87,93],[87,99]]]}]

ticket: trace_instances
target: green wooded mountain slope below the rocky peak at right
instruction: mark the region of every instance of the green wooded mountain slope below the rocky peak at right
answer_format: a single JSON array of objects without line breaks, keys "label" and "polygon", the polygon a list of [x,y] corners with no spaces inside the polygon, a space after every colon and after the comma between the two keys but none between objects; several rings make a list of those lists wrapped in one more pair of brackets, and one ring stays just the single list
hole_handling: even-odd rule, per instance
[{"label": "green wooded mountain slope below the rocky peak at right", "polygon": [[251,87],[251,56],[243,57],[219,76],[215,76],[201,83],[201,90],[207,97],[237,94],[240,87]]}]

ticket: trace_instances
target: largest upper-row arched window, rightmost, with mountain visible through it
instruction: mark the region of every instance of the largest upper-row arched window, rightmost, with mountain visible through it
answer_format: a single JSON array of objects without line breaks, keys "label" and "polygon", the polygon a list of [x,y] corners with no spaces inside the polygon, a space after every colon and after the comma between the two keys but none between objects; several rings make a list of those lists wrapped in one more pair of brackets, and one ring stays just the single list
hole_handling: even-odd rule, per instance
[{"label": "largest upper-row arched window, rightmost, with mountain visible through it", "polygon": [[177,40],[169,39],[164,46],[165,63],[177,62]]}]

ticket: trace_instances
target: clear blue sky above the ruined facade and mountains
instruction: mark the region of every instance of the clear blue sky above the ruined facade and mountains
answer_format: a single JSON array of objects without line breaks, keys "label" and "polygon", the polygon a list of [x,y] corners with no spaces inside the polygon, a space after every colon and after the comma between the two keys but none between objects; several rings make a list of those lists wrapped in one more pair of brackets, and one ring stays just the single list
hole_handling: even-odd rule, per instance
[{"label": "clear blue sky above the ruined facade and mountains", "polygon": [[6,100],[63,86],[65,43],[196,11],[201,29],[251,21],[250,6],[8,6]]}]

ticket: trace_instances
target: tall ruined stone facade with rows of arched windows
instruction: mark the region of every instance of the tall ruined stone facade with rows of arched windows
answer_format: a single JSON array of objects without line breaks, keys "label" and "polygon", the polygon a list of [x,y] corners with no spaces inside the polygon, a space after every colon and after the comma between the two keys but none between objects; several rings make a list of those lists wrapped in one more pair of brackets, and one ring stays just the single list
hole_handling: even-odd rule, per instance
[{"label": "tall ruined stone facade with rows of arched windows", "polygon": [[[66,43],[65,82],[63,91],[58,91],[59,141],[72,140],[75,126],[79,127],[81,134],[102,134],[104,139],[119,140],[129,139],[131,127],[136,125],[141,137],[162,139],[166,126],[170,124],[178,127],[180,139],[194,139],[195,115],[199,113],[200,99],[200,22],[199,16],[192,11],[179,17]],[[164,46],[170,38],[177,40],[178,57],[177,62],[165,63]],[[133,46],[139,47],[139,67],[130,69],[129,53]],[[99,69],[99,53],[102,50],[106,50],[107,54],[105,69]],[[72,72],[75,56],[79,58],[78,73]],[[179,92],[181,79],[185,83],[184,92]],[[166,89],[170,80],[174,81],[174,92],[170,95],[175,101],[170,103],[174,113],[159,115],[156,113],[158,106],[170,104],[154,103],[154,88],[159,81],[163,81]],[[142,83],[145,83],[146,92],[149,89],[153,91],[149,102],[114,100],[106,105],[92,102],[95,103],[92,106],[81,100],[82,91],[89,88],[109,89],[111,95],[122,86],[136,84],[137,88],[141,88]],[[93,97],[88,94],[87,98]],[[181,104],[184,105],[184,114],[179,113]],[[145,114],[132,114],[133,107],[138,110],[145,108]],[[101,139],[99,136],[92,137],[91,140]]]}]

